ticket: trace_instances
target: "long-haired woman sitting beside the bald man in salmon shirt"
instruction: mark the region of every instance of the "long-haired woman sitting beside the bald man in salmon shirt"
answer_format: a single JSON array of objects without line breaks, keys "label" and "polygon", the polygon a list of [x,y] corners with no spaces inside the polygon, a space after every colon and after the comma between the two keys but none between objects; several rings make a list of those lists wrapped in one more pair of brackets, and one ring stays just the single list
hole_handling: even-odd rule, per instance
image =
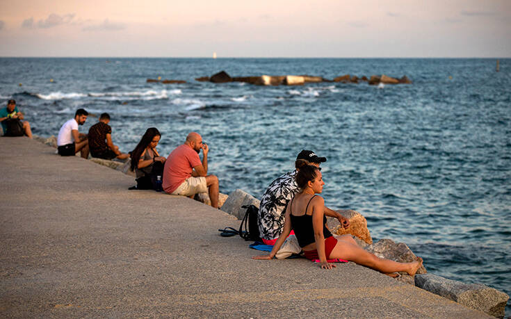
[{"label": "long-haired woman sitting beside the bald man in salmon shirt", "polygon": [[[136,172],[137,186],[140,186],[140,179],[154,179],[156,175],[163,174],[163,163],[166,158],[160,156],[156,151],[156,145],[160,141],[161,134],[156,127],[151,127],[145,131],[144,136],[138,142],[138,145],[131,152],[131,171]],[[150,181],[150,180],[149,180]],[[148,181],[142,181],[144,184],[139,189],[150,188],[147,185]]]}]

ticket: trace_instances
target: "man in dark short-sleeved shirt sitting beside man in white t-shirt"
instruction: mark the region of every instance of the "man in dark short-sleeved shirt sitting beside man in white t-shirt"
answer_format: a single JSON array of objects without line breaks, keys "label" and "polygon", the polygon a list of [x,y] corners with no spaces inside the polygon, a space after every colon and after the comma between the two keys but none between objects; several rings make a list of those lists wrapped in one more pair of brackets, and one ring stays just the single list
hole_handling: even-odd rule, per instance
[{"label": "man in dark short-sleeved shirt sitting beside man in white t-shirt", "polygon": [[88,133],[90,155],[108,160],[129,158],[129,154],[120,152],[119,147],[113,145],[112,128],[108,125],[109,122],[110,115],[103,113],[99,117],[99,122],[90,126]]}]

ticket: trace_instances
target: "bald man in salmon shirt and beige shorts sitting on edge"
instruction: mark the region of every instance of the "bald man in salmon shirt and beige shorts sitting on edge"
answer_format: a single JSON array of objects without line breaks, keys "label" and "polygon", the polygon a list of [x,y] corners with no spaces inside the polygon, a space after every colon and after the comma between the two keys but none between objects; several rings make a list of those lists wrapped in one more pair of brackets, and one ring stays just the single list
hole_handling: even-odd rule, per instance
[{"label": "bald man in salmon shirt and beige shorts sitting on edge", "polygon": [[[202,149],[202,161],[199,153]],[[195,132],[186,136],[183,145],[176,147],[163,167],[163,190],[171,195],[191,197],[209,192],[211,206],[218,208],[218,177],[208,175],[209,147]]]}]

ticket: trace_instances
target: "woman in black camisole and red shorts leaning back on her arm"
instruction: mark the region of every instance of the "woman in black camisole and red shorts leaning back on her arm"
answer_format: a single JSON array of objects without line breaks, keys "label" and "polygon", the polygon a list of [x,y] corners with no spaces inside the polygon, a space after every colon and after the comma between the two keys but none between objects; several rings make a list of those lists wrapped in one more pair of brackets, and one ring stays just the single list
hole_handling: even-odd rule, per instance
[{"label": "woman in black camisole and red shorts leaning back on her arm", "polygon": [[305,257],[311,260],[319,259],[321,268],[335,267],[334,264],[328,263],[327,259],[344,259],[384,274],[403,271],[413,276],[419,270],[422,265],[420,257],[412,263],[382,259],[363,250],[350,235],[335,238],[330,234],[326,227],[325,201],[323,197],[316,195],[323,191],[323,185],[325,185],[318,167],[302,167],[296,175],[296,182],[302,191],[293,197],[286,208],[284,230],[277,243],[270,254],[254,256],[252,259],[273,259],[293,229]]}]

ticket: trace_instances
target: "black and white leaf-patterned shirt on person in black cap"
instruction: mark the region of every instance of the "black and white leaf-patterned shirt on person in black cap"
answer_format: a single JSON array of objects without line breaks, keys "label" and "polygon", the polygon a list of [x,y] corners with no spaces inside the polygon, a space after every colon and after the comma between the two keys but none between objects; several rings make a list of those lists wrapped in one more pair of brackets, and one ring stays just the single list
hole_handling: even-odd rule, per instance
[{"label": "black and white leaf-patterned shirt on person in black cap", "polygon": [[278,238],[284,229],[284,215],[289,201],[300,192],[295,181],[298,171],[286,173],[273,181],[261,198],[258,224],[261,238]]}]

